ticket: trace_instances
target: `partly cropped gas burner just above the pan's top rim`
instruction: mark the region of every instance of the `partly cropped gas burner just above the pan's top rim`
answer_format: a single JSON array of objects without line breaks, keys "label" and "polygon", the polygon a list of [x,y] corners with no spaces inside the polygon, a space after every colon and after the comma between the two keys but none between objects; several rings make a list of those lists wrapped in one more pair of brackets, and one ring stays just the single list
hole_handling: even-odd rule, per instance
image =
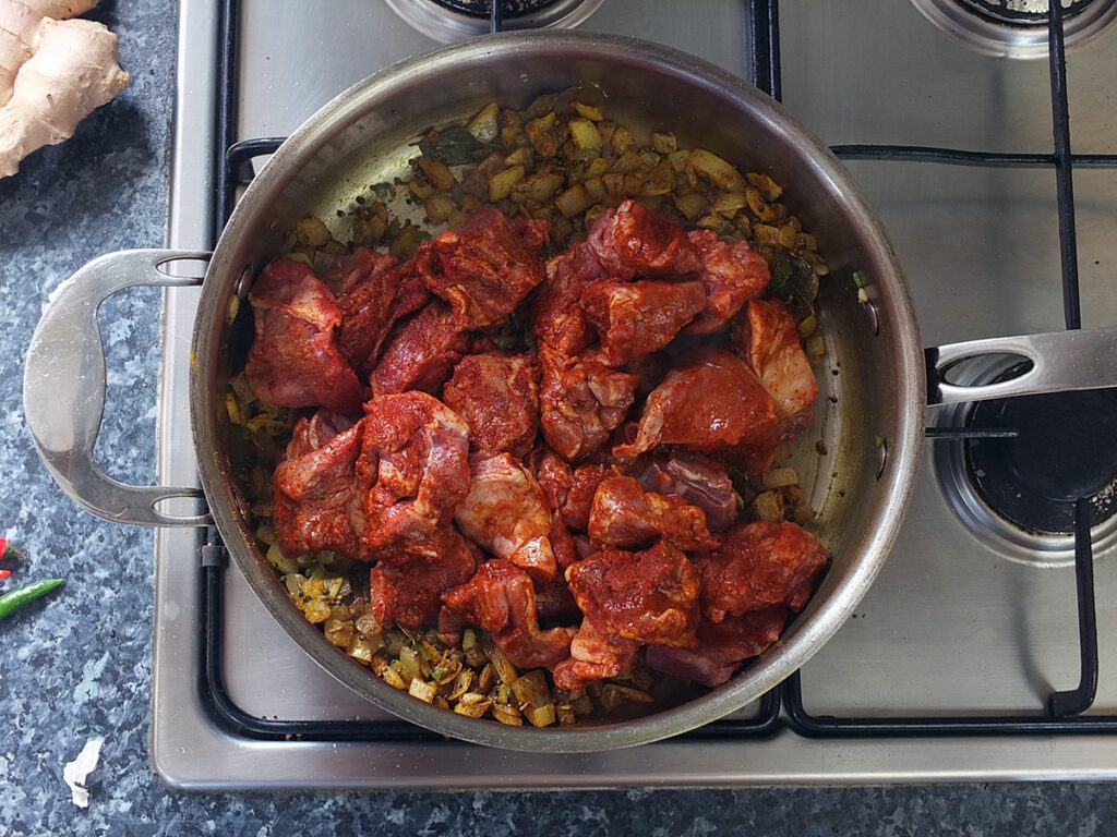
[{"label": "partly cropped gas burner just above the pan's top rim", "polygon": [[[489,31],[490,0],[386,0],[412,28],[435,40],[450,41]],[[505,29],[573,28],[604,0],[504,0]]]}]

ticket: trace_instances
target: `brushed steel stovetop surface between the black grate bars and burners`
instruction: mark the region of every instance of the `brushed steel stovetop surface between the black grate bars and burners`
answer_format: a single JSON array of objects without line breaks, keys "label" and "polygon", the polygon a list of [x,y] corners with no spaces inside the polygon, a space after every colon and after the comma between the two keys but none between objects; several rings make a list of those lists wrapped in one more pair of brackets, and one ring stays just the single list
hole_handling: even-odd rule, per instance
[{"label": "brushed steel stovetop surface between the black grate bars and burners", "polygon": [[[367,0],[244,0],[239,8],[237,140],[283,136],[322,104],[394,60],[437,42]],[[328,13],[327,9],[328,7]],[[170,243],[210,247],[213,170],[199,125],[210,124],[217,68],[216,0],[182,3],[179,119]],[[748,4],[605,0],[583,28],[633,35],[703,56],[747,77]],[[344,21],[342,25],[338,21]],[[909,2],[780,3],[782,97],[831,145],[899,144],[1051,153],[1046,60],[980,55]],[[1117,27],[1070,50],[1076,153],[1114,153]],[[212,81],[212,84],[210,84]],[[184,122],[185,121],[185,122]],[[189,127],[187,127],[189,125]],[[204,132],[202,132],[204,134]],[[210,137],[211,138],[211,137]],[[878,209],[911,287],[925,345],[1063,327],[1054,176],[1049,167],[850,162]],[[1083,326],[1117,312],[1117,172],[1076,172]],[[181,393],[195,292],[166,297],[161,475],[195,479]],[[928,412],[928,422],[938,416]],[[942,444],[942,443],[939,443]],[[855,617],[801,673],[814,715],[1041,716],[1047,695],[1078,680],[1070,559],[1006,557],[948,506],[928,443],[914,502],[879,579]],[[439,742],[273,741],[229,729],[199,680],[199,533],[157,538],[152,749],[171,783],[202,787],[516,787],[913,781],[1117,775],[1105,733],[972,738],[682,740],[600,756],[542,757]],[[1066,539],[1054,545],[1069,550]],[[1057,551],[1058,551],[1057,549]],[[1117,712],[1117,548],[1096,546],[1101,676],[1088,716]],[[1039,566],[1042,564],[1043,566]],[[1056,566],[1059,565],[1059,566]],[[228,696],[264,719],[382,719],[322,672],[225,570],[221,660]],[[745,708],[750,718],[756,706]],[[220,713],[218,713],[220,715]],[[447,757],[451,753],[451,757]]]}]

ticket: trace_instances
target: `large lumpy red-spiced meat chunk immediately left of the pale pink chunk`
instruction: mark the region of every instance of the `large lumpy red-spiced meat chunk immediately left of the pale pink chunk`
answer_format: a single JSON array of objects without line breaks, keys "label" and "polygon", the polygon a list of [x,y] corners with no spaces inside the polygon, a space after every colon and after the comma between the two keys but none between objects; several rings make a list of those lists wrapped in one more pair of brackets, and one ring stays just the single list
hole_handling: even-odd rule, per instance
[{"label": "large lumpy red-spiced meat chunk immediately left of the pale pink chunk", "polygon": [[[469,429],[424,393],[382,395],[365,404],[356,463],[369,549],[416,552],[447,523],[469,491]],[[427,551],[437,552],[437,543]],[[381,556],[384,560],[389,555]]]}]

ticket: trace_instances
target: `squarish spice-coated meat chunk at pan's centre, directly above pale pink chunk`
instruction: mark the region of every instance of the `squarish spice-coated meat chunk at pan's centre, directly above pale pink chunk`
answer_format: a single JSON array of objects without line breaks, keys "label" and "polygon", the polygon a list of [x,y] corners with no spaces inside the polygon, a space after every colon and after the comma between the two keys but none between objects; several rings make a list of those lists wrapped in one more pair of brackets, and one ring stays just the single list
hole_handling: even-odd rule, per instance
[{"label": "squarish spice-coated meat chunk at pan's centre, directly above pale pink chunk", "polygon": [[526,456],[540,426],[540,362],[534,355],[467,355],[442,401],[469,424],[469,448],[493,456]]}]

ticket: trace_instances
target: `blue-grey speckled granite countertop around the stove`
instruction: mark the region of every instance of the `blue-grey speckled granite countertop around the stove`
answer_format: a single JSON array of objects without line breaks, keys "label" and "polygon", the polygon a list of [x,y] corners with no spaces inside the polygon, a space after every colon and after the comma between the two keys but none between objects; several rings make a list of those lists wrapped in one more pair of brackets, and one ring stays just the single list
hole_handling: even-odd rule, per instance
[{"label": "blue-grey speckled granite countertop around the stove", "polygon": [[[569,793],[189,796],[147,761],[152,535],[101,521],[63,496],[22,419],[23,354],[49,294],[95,256],[159,247],[174,85],[174,4],[105,0],[132,86],[77,136],[0,181],[0,535],[28,556],[13,581],[66,587],[0,623],[0,834],[1111,834],[1117,788],[1013,785]],[[98,442],[114,477],[154,473],[159,297],[102,311],[109,403]],[[103,738],[92,802],[63,766]]]}]

